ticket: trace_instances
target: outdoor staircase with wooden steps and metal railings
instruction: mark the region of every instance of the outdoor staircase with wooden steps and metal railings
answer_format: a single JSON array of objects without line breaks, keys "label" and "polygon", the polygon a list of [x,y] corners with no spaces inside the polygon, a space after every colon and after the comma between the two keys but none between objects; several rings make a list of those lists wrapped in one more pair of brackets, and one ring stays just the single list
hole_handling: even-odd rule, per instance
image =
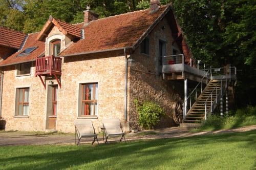
[{"label": "outdoor staircase with wooden steps and metal railings", "polygon": [[218,103],[221,103],[221,114],[223,114],[223,95],[228,83],[231,80],[236,80],[236,68],[230,67],[228,72],[226,70],[226,68],[207,70],[196,88],[182,104],[183,121],[181,126],[200,126],[208,114],[215,110]]}]

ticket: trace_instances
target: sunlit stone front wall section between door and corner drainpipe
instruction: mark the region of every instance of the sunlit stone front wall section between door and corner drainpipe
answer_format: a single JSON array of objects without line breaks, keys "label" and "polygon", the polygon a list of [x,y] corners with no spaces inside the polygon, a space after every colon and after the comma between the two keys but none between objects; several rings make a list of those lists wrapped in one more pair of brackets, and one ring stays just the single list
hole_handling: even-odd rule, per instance
[{"label": "sunlit stone front wall section between door and corner drainpipe", "polygon": [[122,55],[123,51],[119,51],[64,59],[58,97],[61,103],[58,106],[58,130],[74,132],[78,84],[85,82],[98,82],[98,118],[91,119],[96,130],[100,130],[102,118],[119,118],[123,122],[125,58]]}]

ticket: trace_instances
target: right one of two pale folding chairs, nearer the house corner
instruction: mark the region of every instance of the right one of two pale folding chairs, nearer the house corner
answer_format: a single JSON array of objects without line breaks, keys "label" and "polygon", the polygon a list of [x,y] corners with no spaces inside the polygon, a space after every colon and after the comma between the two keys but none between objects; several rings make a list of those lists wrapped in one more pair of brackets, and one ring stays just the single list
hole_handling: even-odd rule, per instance
[{"label": "right one of two pale folding chairs, nearer the house corner", "polygon": [[108,138],[110,136],[121,136],[121,139],[119,142],[121,142],[122,139],[124,139],[124,141],[126,142],[122,124],[118,118],[102,119],[102,124],[103,124],[103,132],[106,137],[105,143],[108,142]]}]

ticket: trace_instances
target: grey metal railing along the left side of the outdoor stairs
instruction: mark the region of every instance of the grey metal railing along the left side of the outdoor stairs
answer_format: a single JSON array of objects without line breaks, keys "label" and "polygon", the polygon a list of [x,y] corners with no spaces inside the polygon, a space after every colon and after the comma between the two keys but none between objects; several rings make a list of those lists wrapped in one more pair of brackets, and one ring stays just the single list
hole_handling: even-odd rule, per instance
[{"label": "grey metal railing along the left side of the outdoor stairs", "polygon": [[[207,86],[207,84],[208,84],[208,74],[209,74],[209,71],[210,70],[208,70],[205,74],[204,74],[204,76],[203,76],[203,78],[200,80],[200,82],[197,84],[197,86],[195,87],[195,89],[188,95],[188,97],[186,98],[186,100],[183,102],[183,104],[182,104],[182,107],[183,107],[183,120],[185,119],[185,117],[186,117],[186,115],[187,115],[187,105],[185,105],[185,103],[189,100],[189,109],[188,109],[188,111],[191,109],[191,102],[193,102],[193,101],[191,101],[191,96],[195,93],[195,101],[197,100],[197,96],[200,96],[200,94],[202,94],[202,92],[203,92],[203,81],[204,81],[204,79],[206,78],[206,86]],[[201,84],[201,86],[200,86],[200,84]],[[197,92],[197,89],[198,89],[198,87],[201,87],[201,93],[198,95],[198,92]],[[200,88],[199,87],[199,88]],[[193,102],[193,103],[195,103],[195,101]],[[193,104],[192,104],[193,105]]]}]

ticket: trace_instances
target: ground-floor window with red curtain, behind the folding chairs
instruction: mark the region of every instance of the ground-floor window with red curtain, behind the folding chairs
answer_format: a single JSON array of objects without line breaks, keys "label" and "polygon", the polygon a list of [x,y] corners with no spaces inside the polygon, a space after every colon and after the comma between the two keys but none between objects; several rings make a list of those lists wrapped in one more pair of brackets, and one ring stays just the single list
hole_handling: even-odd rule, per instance
[{"label": "ground-floor window with red curtain, behind the folding chairs", "polygon": [[79,116],[98,115],[98,83],[79,86]]}]

